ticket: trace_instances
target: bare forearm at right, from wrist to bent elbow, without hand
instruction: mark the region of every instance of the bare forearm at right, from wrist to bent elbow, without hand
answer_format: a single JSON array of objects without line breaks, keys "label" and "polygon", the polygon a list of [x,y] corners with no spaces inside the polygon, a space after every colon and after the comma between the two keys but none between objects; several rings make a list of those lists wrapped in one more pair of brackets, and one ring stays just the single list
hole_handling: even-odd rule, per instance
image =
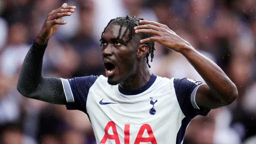
[{"label": "bare forearm at right, from wrist to bent elbow, without hand", "polygon": [[237,97],[237,88],[223,70],[194,48],[186,47],[180,51],[211,89],[211,96],[219,99],[220,106],[232,103]]}]

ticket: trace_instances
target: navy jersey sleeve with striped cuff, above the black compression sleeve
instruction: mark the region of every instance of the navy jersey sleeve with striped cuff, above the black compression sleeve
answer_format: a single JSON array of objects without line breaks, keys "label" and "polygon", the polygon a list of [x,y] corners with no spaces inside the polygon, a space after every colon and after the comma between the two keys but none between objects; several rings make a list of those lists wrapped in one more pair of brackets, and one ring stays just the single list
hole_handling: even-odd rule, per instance
[{"label": "navy jersey sleeve with striped cuff, above the black compression sleeve", "polygon": [[80,110],[86,112],[86,101],[90,87],[94,84],[98,76],[75,77],[72,79],[62,79],[64,93],[66,96],[68,110]]}]

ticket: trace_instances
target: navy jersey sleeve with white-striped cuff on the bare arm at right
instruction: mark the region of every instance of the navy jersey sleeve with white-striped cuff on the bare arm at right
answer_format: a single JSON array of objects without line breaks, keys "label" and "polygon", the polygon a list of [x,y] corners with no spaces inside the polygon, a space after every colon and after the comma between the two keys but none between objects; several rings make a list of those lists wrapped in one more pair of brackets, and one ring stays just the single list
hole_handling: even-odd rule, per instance
[{"label": "navy jersey sleeve with white-striped cuff on the bare arm at right", "polygon": [[189,78],[174,78],[173,84],[180,108],[186,117],[206,116],[210,112],[210,109],[200,107],[195,102],[196,91],[202,82]]}]

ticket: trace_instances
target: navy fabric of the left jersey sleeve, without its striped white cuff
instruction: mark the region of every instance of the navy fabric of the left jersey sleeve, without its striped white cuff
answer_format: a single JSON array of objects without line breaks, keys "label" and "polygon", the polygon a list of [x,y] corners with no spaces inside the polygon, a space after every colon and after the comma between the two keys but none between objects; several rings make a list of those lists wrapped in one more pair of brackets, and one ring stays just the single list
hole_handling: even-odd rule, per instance
[{"label": "navy fabric of the left jersey sleeve, without its striped white cuff", "polygon": [[91,88],[91,86],[94,84],[94,82],[98,77],[99,76],[90,75],[90,76],[84,76],[84,77],[75,77],[68,80],[71,91],[74,96],[74,102],[68,102],[66,104],[67,109],[80,110],[87,113],[86,101],[87,101],[89,89]]}]

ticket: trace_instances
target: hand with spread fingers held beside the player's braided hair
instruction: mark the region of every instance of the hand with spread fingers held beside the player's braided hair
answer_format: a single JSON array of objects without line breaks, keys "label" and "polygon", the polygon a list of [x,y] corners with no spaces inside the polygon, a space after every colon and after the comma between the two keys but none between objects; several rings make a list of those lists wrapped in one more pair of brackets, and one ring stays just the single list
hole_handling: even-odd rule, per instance
[{"label": "hand with spread fingers held beside the player's braided hair", "polygon": [[134,27],[135,33],[153,35],[150,38],[140,40],[141,43],[156,41],[166,48],[177,52],[181,52],[184,48],[192,48],[187,41],[182,39],[164,24],[147,20],[140,20],[139,22],[144,25]]}]

